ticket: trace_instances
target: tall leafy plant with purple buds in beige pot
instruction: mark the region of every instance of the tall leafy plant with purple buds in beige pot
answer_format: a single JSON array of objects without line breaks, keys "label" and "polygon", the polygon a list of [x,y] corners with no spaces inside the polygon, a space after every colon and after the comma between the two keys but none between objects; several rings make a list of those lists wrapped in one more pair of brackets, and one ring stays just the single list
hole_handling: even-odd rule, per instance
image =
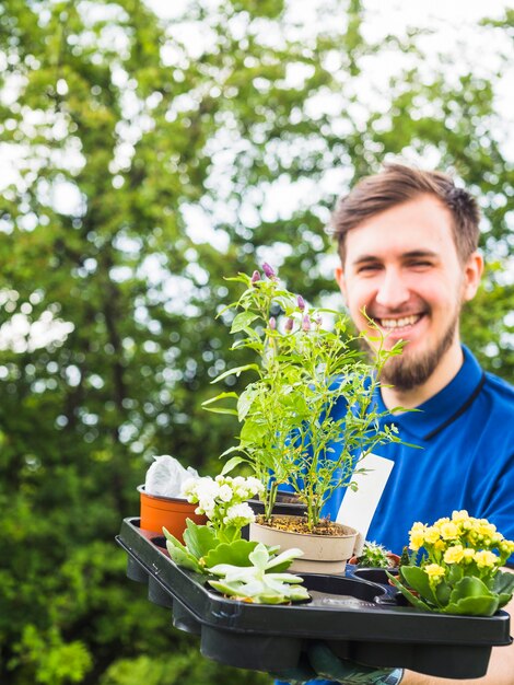
[{"label": "tall leafy plant with purple buds in beige pot", "polygon": [[[282,548],[303,549],[305,555],[301,564],[293,565],[294,570],[339,572],[353,555],[357,531],[324,520],[323,508],[336,488],[355,487],[352,474],[376,445],[400,442],[393,425],[381,427],[379,420],[390,413],[379,413],[373,396],[382,368],[400,353],[401,345],[392,349],[378,345],[373,359],[366,360],[358,349],[358,337],[348,332],[344,314],[308,310],[301,295],[281,285],[269,265],[262,269],[265,277],[255,271],[252,277],[240,274],[227,279],[241,282],[244,291],[223,310],[236,310],[232,349],[250,349],[257,360],[232,368],[213,382],[242,373],[254,378],[241,394],[223,392],[203,406],[232,413],[242,425],[238,443],[223,454],[237,453],[224,471],[246,463],[266,486],[264,513],[250,525],[250,536]],[[282,314],[281,321],[277,312]],[[332,325],[325,326],[323,316],[331,318]],[[379,340],[378,329],[376,336]],[[235,407],[227,406],[234,402]],[[296,495],[305,515],[273,514],[281,489]],[[324,550],[322,569],[309,562],[311,542]],[[335,550],[330,550],[332,545]]]}]

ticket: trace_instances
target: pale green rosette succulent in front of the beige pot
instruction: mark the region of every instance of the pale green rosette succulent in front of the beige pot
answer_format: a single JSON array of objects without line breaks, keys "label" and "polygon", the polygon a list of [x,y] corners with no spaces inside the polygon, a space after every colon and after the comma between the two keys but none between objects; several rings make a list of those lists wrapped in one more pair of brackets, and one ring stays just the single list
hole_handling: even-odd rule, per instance
[{"label": "pale green rosette succulent in front of the beige pot", "polygon": [[284,564],[302,554],[301,549],[287,549],[273,556],[266,545],[259,543],[249,555],[249,566],[219,564],[209,569],[221,580],[209,580],[209,584],[226,594],[256,604],[284,604],[308,600],[303,579],[293,573],[279,572]]}]

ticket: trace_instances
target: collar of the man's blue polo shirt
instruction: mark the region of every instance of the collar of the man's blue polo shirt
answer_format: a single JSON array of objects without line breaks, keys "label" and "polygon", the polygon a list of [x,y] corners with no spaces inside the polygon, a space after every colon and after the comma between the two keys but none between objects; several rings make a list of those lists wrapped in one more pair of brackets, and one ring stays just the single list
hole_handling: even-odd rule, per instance
[{"label": "collar of the man's blue polo shirt", "polygon": [[[436,395],[417,407],[417,411],[388,417],[399,429],[408,430],[424,440],[442,430],[458,418],[472,403],[483,383],[483,371],[467,347],[463,346],[464,361],[457,375]],[[381,411],[387,411],[379,390],[377,405]]]}]

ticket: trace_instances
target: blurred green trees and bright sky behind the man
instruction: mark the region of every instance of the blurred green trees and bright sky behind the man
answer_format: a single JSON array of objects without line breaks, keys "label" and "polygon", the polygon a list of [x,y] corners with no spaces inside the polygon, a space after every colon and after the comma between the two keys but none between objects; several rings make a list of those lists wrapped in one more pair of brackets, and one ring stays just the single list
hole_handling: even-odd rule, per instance
[{"label": "blurred green trees and bright sky behind the man", "polygon": [[514,12],[430,5],[2,1],[1,683],[270,682],[199,657],[114,536],[152,455],[205,475],[233,444],[200,407],[244,363],[224,277],[267,260],[340,306],[324,228],[384,160],[480,199],[463,337],[513,381]]}]

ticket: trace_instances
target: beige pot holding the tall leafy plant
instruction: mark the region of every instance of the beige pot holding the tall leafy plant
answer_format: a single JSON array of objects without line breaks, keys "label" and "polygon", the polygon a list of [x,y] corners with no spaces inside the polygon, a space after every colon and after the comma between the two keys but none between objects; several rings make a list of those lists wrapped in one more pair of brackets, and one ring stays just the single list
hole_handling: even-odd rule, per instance
[{"label": "beige pot holding the tall leafy plant", "polygon": [[[294,519],[294,516],[280,516]],[[299,547],[303,557],[295,559],[288,571],[292,573],[343,573],[348,559],[353,555],[358,532],[347,525],[340,526],[340,535],[316,535],[273,529],[250,523],[249,538],[265,545],[280,545],[281,550]]]}]

